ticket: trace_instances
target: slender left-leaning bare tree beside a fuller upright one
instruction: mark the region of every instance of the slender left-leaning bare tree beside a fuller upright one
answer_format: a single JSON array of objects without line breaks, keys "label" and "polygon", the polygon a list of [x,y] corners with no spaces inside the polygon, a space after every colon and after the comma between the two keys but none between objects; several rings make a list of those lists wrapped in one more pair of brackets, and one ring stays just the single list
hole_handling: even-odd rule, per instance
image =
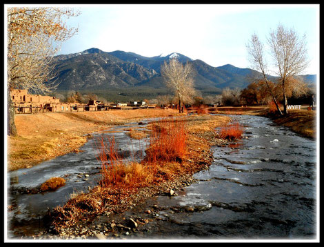
[{"label": "slender left-leaning bare tree beside a fuller upright one", "polygon": [[265,61],[265,54],[264,54],[264,45],[261,43],[259,37],[256,34],[252,34],[251,40],[249,43],[246,44],[247,52],[249,55],[250,63],[252,67],[261,72],[263,75],[263,81],[265,81],[265,85],[267,85],[267,90],[269,91],[272,100],[274,101],[276,108],[280,115],[283,115],[281,109],[279,107],[279,103],[276,99],[276,96],[270,87],[270,83],[267,79],[267,62]]}]

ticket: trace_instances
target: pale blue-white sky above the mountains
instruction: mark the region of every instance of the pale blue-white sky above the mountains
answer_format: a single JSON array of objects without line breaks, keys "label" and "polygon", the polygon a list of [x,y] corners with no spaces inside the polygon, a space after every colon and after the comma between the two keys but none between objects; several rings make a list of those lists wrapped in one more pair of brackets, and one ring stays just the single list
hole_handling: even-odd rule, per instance
[{"label": "pale blue-white sky above the mountains", "polygon": [[70,5],[81,11],[68,20],[79,26],[58,54],[99,48],[145,57],[179,52],[210,66],[249,68],[245,43],[253,33],[266,42],[279,23],[307,36],[310,66],[319,71],[319,5]]}]

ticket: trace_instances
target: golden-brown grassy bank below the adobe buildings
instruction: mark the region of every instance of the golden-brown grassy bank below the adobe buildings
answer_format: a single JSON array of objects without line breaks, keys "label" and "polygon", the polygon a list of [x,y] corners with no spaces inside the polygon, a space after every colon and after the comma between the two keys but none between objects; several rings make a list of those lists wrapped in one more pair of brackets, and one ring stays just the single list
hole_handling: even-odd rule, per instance
[{"label": "golden-brown grassy bank below the adobe buildings", "polygon": [[114,124],[169,115],[179,113],[172,109],[139,109],[17,115],[18,136],[8,137],[7,170],[28,168],[68,152],[78,152],[92,132]]}]

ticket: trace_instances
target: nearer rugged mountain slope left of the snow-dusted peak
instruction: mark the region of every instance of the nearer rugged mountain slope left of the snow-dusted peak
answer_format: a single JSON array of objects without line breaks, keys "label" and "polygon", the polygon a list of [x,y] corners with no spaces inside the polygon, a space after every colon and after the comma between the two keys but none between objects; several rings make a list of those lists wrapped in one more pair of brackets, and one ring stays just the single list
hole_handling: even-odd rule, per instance
[{"label": "nearer rugged mountain slope left of the snow-dusted peak", "polygon": [[153,69],[125,62],[94,48],[55,57],[58,90],[108,89],[129,87],[156,77]]}]

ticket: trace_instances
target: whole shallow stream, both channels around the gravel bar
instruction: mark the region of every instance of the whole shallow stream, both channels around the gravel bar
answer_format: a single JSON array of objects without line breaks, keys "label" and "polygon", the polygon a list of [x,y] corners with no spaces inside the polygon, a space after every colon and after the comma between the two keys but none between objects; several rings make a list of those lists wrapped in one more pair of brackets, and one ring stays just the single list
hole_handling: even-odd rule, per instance
[{"label": "whole shallow stream, both channels around the gravel bar", "polygon": [[[143,230],[125,238],[316,238],[316,141],[265,117],[230,117],[245,128],[243,139],[235,145],[212,147],[214,161],[208,170],[194,175],[195,183],[176,190],[175,196],[152,197],[132,210],[109,216],[116,221],[123,217],[152,219]],[[103,132],[114,136],[125,159],[141,159],[145,150],[145,140],[131,141],[125,134],[125,128],[134,126],[139,127],[133,123]],[[41,217],[49,208],[63,206],[72,192],[84,192],[97,183],[100,165],[94,140],[100,135],[94,134],[82,152],[8,172],[8,188],[34,188],[50,177],[67,179],[54,192],[8,192],[8,204],[14,206],[7,216],[8,238],[43,230]],[[146,214],[148,209],[154,213]]]}]

